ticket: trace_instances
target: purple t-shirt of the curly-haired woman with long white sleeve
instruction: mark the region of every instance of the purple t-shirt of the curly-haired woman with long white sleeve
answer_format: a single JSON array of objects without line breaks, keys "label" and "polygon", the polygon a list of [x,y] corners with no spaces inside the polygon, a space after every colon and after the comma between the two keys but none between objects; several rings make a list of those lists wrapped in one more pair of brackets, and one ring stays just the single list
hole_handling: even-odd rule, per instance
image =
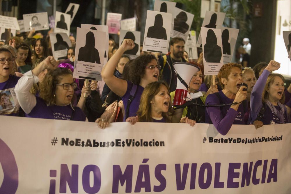
[{"label": "purple t-shirt of the curly-haired woman with long white sleeve", "polygon": [[[40,97],[36,97],[36,106],[31,110],[27,117],[42,118],[42,119],[58,119],[58,120],[74,120],[74,121],[85,121],[86,115],[79,107],[73,109],[71,105],[67,106],[47,106],[46,102]],[[72,118],[73,115],[73,118]]]}]

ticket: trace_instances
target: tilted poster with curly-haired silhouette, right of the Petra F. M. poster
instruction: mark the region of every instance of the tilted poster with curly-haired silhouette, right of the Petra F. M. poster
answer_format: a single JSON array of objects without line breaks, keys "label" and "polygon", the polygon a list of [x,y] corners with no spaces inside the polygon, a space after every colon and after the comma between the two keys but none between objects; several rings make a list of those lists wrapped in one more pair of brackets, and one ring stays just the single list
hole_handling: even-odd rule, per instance
[{"label": "tilted poster with curly-haired silhouette, right of the Petra F. M. poster", "polygon": [[181,37],[187,41],[194,15],[182,9],[175,8],[174,28],[171,38]]}]

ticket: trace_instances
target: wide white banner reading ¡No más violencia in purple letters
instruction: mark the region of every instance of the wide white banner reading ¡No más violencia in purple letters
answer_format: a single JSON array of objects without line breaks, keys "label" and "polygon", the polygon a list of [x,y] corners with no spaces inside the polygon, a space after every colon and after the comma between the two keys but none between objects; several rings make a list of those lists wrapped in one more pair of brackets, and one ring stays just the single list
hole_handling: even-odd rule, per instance
[{"label": "wide white banner reading \u00a1No m\u00e1s violencia in purple letters", "polygon": [[0,118],[0,193],[290,193],[291,124]]}]

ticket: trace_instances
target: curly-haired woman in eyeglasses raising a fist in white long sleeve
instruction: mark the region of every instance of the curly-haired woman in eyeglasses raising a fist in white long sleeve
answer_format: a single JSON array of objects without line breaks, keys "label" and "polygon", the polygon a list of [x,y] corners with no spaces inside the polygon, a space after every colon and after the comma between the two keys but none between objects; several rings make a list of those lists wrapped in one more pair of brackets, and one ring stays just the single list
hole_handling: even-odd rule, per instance
[{"label": "curly-haired woman in eyeglasses raising a fist in white long sleeve", "polygon": [[[73,74],[66,68],[56,68],[57,62],[48,56],[36,68],[26,72],[15,86],[15,93],[21,108],[28,117],[86,121],[79,107],[71,104],[74,89]],[[39,86],[39,97],[29,92],[33,83],[39,81],[38,75],[49,69]]]}]

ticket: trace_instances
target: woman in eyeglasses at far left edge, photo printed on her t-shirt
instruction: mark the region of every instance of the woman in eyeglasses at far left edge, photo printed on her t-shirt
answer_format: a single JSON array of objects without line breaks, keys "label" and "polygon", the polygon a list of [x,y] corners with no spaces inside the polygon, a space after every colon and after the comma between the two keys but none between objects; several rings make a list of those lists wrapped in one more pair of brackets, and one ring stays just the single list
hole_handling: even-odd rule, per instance
[{"label": "woman in eyeglasses at far left edge, photo printed on her t-shirt", "polygon": [[[15,96],[15,85],[19,80],[19,77],[11,75],[13,72],[14,59],[11,52],[3,47],[0,47],[0,115],[18,116],[19,115],[19,103]],[[6,96],[2,98],[2,96]],[[4,105],[9,101],[11,106]],[[7,104],[7,103],[6,103]]]}]

